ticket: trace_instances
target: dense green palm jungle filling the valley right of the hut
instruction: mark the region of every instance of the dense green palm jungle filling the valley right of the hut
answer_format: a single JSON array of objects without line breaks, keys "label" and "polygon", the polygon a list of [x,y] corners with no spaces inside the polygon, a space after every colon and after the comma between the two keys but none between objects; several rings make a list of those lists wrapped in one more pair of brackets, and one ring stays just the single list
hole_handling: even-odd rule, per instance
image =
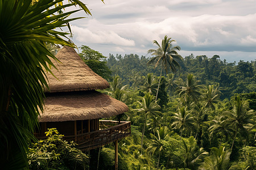
[{"label": "dense green palm jungle filling the valley right of the hut", "polygon": [[[119,81],[121,82],[120,87],[125,84],[131,86],[131,88],[127,87],[123,90],[123,96],[132,97],[132,99],[123,101],[130,108],[127,118],[132,125],[135,125],[132,130],[133,139],[126,140],[122,149],[122,156],[126,155],[126,163],[129,164],[129,167],[135,169],[157,167],[160,169],[198,169],[205,160],[209,164],[216,164],[213,151],[212,155],[205,158],[206,151],[210,152],[213,147],[218,148],[221,145],[229,150],[233,145],[232,154],[230,155],[230,151],[224,150],[225,154],[228,155],[228,158],[230,157],[229,159],[234,165],[243,167],[242,163],[236,164],[242,160],[239,158],[243,152],[241,148],[246,145],[255,146],[255,112],[250,111],[250,106],[254,105],[255,92],[238,94],[240,98],[247,100],[243,101],[244,104],[248,102],[250,105],[245,104],[241,107],[241,111],[246,113],[247,117],[246,121],[242,122],[243,130],[238,129],[237,132],[235,123],[231,121],[237,113],[235,111],[237,107],[233,105],[233,103],[237,103],[237,97],[231,96],[234,94],[234,89],[240,91],[245,88],[243,86],[246,83],[251,83],[246,79],[253,82],[254,80],[251,79],[253,75],[247,74],[246,77],[243,75],[238,78],[238,75],[241,74],[234,71],[237,66],[222,62],[219,56],[212,58],[197,56],[195,58],[191,54],[185,57],[184,63],[180,63],[181,69],[178,77],[177,74],[168,74],[167,78],[164,76],[160,78],[157,75],[161,75],[161,69],[153,70],[151,66],[143,67],[143,63],[148,61],[150,58],[143,56],[139,58],[133,54],[124,57],[121,55],[114,57],[110,54],[108,60],[108,65],[114,70],[113,73],[118,74],[120,79],[122,78]],[[252,61],[252,63],[254,62]],[[157,81],[159,83],[159,80],[161,80],[159,98],[161,98],[160,91],[165,96],[164,99],[157,101],[161,106],[159,108],[161,114],[146,116],[146,109],[142,109],[144,108],[142,107],[144,105],[143,98],[148,98],[151,95],[150,101],[154,104],[156,83]],[[237,83],[240,83],[241,86]],[[111,94],[114,88],[109,91]],[[171,96],[167,97],[167,92]],[[224,99],[225,97],[227,98]],[[161,105],[161,101],[166,103]],[[147,103],[150,104],[150,102]],[[230,116],[228,112],[234,115]],[[160,139],[158,138],[159,128],[163,126],[168,127],[170,134],[166,138]],[[147,145],[145,145],[146,143]],[[249,162],[248,156],[243,160],[243,164],[246,161]],[[227,160],[224,162],[228,162],[224,164],[229,167],[230,162]],[[150,168],[147,164],[151,165]]]}]

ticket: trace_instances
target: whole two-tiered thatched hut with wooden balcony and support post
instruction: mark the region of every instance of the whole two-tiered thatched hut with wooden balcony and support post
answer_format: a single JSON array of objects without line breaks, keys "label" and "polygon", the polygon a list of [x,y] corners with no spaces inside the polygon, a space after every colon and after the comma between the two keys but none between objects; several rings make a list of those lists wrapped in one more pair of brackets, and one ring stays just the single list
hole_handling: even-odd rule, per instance
[{"label": "whole two-tiered thatched hut with wooden balcony and support post", "polygon": [[[95,90],[109,83],[94,73],[73,48],[64,46],[52,59],[56,69],[47,73],[49,90],[45,87],[44,111],[38,117],[37,138],[45,138],[49,128],[56,128],[67,140],[77,142],[82,151],[115,142],[115,169],[118,162],[118,140],[131,134],[131,123],[99,121],[128,111],[125,103]],[[105,124],[104,124],[105,122]],[[109,124],[110,123],[110,124]],[[111,126],[109,128],[109,125]]]}]

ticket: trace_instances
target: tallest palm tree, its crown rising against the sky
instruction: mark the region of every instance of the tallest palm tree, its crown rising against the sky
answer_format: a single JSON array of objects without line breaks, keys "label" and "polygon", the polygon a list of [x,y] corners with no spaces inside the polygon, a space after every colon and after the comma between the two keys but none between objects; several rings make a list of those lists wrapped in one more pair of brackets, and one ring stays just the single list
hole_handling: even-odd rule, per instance
[{"label": "tallest palm tree, its crown rising against the sky", "polygon": [[176,73],[177,67],[180,67],[180,61],[182,61],[182,57],[180,54],[176,52],[176,50],[180,50],[180,46],[173,46],[172,42],[175,42],[175,40],[172,40],[171,38],[168,38],[167,35],[164,36],[164,39],[162,40],[162,44],[159,45],[158,41],[154,40],[153,44],[156,44],[158,46],[158,49],[150,49],[147,51],[147,53],[151,53],[153,56],[148,61],[148,65],[151,63],[155,63],[155,67],[161,64],[161,72],[160,72],[160,78],[158,83],[158,90],[156,92],[156,98],[155,101],[158,98],[158,91],[160,86],[160,80],[162,77],[162,71],[163,69],[166,70],[166,73],[168,73],[169,70]]}]

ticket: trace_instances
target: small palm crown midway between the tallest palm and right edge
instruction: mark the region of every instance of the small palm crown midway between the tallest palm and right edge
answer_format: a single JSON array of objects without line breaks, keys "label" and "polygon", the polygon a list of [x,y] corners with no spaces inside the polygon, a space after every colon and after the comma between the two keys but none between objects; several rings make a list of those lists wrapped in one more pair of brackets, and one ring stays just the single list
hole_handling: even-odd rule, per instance
[{"label": "small palm crown midway between the tallest palm and right edge", "polygon": [[220,96],[220,91],[216,87],[214,89],[213,85],[206,86],[206,90],[203,93],[203,101],[205,102],[205,108],[212,108],[215,110],[215,103],[218,103],[218,97]]}]

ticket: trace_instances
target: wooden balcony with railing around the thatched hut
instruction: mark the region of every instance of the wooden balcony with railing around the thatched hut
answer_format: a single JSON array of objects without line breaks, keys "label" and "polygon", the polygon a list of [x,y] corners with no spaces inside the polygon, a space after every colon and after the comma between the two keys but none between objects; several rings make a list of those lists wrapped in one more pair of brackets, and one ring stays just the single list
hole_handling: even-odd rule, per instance
[{"label": "wooden balcony with railing around the thatched hut", "polygon": [[[100,120],[98,125],[99,130],[83,133],[86,129],[82,129],[76,131],[76,135],[64,134],[63,138],[67,141],[75,141],[81,151],[88,151],[125,138],[131,134],[130,121]],[[42,139],[46,137],[36,135],[36,138]]]}]

